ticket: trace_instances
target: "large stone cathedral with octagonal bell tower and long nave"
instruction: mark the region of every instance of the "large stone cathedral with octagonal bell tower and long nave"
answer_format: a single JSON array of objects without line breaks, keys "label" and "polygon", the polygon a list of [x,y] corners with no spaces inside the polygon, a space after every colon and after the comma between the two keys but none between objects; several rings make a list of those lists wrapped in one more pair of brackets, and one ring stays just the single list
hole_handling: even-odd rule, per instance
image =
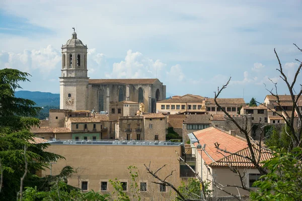
[{"label": "large stone cathedral with octagonal bell tower and long nave", "polygon": [[109,113],[110,102],[128,100],[156,113],[156,102],[166,98],[166,85],[159,79],[90,79],[87,45],[75,32],[61,49],[60,109]]}]

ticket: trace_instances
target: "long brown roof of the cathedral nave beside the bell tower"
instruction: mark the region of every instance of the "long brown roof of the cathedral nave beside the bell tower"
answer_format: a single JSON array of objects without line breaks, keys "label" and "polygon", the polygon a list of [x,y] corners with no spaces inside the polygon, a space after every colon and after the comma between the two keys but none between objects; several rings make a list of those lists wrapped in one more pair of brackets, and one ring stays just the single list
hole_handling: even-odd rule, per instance
[{"label": "long brown roof of the cathedral nave beside the bell tower", "polygon": [[159,79],[89,79],[89,84],[153,84]]}]

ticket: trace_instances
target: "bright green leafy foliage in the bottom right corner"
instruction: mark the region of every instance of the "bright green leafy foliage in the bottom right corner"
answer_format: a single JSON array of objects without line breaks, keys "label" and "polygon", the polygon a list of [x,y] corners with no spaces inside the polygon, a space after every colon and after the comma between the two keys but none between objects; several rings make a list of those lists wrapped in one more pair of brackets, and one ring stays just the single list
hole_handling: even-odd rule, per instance
[{"label": "bright green leafy foliage in the bottom right corner", "polygon": [[253,200],[302,200],[302,149],[296,147],[292,152],[277,149],[271,160],[264,162],[269,173],[255,181],[259,187],[251,192]]}]

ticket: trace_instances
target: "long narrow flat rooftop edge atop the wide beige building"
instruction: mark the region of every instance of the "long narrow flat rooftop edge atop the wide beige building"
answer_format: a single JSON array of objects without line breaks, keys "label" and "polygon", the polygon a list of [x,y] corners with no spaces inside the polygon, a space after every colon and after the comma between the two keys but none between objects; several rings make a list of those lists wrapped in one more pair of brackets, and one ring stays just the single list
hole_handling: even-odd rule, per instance
[{"label": "long narrow flat rooftop edge atop the wide beige building", "polygon": [[180,146],[182,142],[144,141],[144,140],[62,140],[53,139],[45,143],[51,145],[135,145],[135,146]]}]

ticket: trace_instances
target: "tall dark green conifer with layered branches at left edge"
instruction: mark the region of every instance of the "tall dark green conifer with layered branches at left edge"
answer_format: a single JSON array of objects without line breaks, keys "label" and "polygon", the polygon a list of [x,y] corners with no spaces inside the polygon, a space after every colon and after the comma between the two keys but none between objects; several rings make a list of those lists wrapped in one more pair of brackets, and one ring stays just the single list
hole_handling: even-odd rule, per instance
[{"label": "tall dark green conifer with layered branches at left edge", "polygon": [[63,158],[45,152],[49,144],[31,143],[34,135],[29,129],[39,125],[40,121],[34,117],[40,108],[35,107],[32,100],[15,96],[15,90],[21,88],[19,82],[29,81],[28,76],[30,74],[16,69],[0,70],[1,200],[16,200],[21,177],[25,175],[24,186],[35,186],[34,182],[38,182],[35,171],[47,168],[50,161]]}]

